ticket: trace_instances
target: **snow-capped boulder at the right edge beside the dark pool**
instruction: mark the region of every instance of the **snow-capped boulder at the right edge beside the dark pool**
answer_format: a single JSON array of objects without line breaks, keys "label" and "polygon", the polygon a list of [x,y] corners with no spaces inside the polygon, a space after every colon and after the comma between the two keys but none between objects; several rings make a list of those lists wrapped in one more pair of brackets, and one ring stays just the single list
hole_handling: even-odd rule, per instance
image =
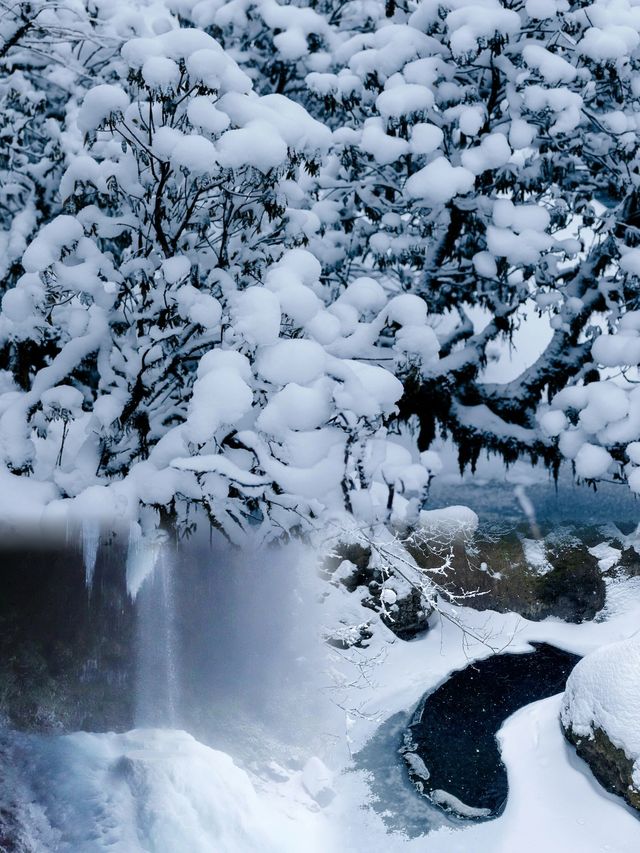
[{"label": "snow-capped boulder at the right edge beside the dark pool", "polygon": [[561,721],[598,781],[640,810],[640,635],[593,652],[567,682]]}]

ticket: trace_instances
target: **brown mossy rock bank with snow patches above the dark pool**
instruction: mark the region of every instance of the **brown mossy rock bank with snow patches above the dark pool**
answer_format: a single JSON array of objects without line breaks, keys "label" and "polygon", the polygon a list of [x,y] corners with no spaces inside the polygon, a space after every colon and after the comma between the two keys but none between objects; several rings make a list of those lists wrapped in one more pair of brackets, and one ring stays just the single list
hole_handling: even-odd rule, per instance
[{"label": "brown mossy rock bank with snow patches above the dark pool", "polygon": [[[588,551],[592,537],[583,531],[576,534],[546,537],[545,572],[527,563],[523,539],[528,531],[458,537],[451,543],[451,571],[444,586],[452,598],[477,593],[471,601],[477,610],[515,611],[534,621],[548,616],[577,623],[593,619],[604,607],[605,583],[597,559]],[[428,543],[414,548],[412,555],[427,568],[441,559]]]}]

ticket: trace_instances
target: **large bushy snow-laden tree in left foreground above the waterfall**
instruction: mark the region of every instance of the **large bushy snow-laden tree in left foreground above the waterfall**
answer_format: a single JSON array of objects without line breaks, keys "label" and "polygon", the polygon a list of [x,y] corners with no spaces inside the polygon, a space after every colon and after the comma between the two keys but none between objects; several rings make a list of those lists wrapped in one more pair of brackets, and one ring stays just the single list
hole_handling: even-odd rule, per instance
[{"label": "large bushy snow-laden tree in left foreground above the waterfall", "polygon": [[368,277],[336,294],[299,247],[330,132],[254,94],[200,30],[122,57],[126,81],[77,114],[65,213],[3,298],[7,347],[31,353],[26,376],[4,374],[6,464],[82,512],[142,503],[187,524],[197,504],[232,537],[306,529],[328,508],[384,520],[403,493],[417,513],[435,462],[386,433],[395,373],[436,341],[421,299]]}]

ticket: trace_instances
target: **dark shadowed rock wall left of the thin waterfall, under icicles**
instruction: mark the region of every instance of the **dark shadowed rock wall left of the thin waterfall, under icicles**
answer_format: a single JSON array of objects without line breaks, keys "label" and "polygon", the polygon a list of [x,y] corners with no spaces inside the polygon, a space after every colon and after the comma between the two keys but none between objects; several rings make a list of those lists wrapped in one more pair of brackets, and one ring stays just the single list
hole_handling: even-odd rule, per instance
[{"label": "dark shadowed rock wall left of the thin waterfall, under icicles", "polygon": [[125,545],[98,551],[91,592],[79,547],[0,552],[0,716],[24,730],[126,730],[134,608]]}]

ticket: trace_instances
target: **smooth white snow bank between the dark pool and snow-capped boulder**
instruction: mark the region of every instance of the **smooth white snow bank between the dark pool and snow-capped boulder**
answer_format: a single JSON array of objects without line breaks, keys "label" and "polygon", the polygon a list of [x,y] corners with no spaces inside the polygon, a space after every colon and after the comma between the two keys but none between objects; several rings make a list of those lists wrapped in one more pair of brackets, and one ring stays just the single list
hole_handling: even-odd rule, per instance
[{"label": "smooth white snow bank between the dark pool and snow-capped boulder", "polygon": [[354,853],[634,853],[640,843],[640,822],[618,797],[600,788],[575,756],[560,730],[559,710],[559,696],[543,699],[522,708],[501,729],[509,799],[497,820],[403,839],[386,834],[377,816],[365,813],[345,830],[341,849]]}]

